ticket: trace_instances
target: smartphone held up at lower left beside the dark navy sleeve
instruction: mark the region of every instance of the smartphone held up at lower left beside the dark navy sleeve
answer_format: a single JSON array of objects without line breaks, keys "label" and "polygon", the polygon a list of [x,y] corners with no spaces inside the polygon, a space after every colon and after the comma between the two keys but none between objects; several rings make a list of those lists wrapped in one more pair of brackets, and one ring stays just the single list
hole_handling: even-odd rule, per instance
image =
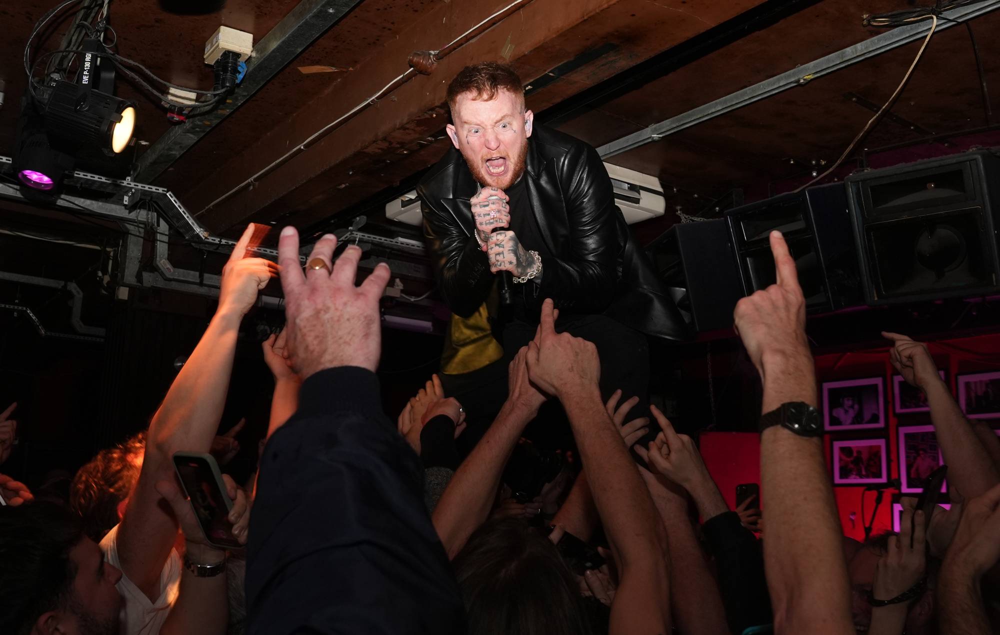
[{"label": "smartphone held up at lower left beside the dark navy sleeve", "polygon": [[215,458],[200,452],[174,452],[174,469],[209,544],[220,549],[242,549],[228,518],[233,501],[226,494]]}]

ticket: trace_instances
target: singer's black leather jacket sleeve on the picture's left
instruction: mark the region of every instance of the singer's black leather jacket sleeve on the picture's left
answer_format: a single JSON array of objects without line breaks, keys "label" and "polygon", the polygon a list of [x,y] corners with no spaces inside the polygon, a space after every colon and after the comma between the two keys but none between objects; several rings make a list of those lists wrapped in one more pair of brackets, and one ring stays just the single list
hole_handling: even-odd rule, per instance
[{"label": "singer's black leather jacket sleeve on the picture's left", "polygon": [[474,229],[466,231],[440,201],[420,193],[424,216],[424,241],[437,279],[438,289],[452,313],[470,317],[479,310],[496,280]]}]

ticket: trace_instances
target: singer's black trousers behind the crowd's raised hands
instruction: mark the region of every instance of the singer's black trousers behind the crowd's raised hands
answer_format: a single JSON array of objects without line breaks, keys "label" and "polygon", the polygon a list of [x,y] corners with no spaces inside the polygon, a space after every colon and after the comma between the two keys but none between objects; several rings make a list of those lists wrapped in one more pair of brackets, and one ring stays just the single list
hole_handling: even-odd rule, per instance
[{"label": "singer's black trousers behind the crowd's raised hands", "polygon": [[[458,399],[468,417],[469,427],[462,434],[468,438],[459,438],[459,451],[463,456],[482,438],[500,411],[507,397],[507,365],[521,347],[534,339],[537,328],[537,325],[514,320],[503,330],[503,359],[472,373],[441,375],[445,394]],[[636,395],[639,397],[639,403],[628,413],[625,423],[649,416],[649,345],[644,334],[604,315],[560,318],[556,330],[597,346],[601,357],[601,396],[605,401],[619,388],[621,402]],[[652,425],[648,440],[652,440],[658,430],[658,426]],[[569,422],[556,400],[549,400],[542,407],[524,436],[546,449],[574,446]]]}]

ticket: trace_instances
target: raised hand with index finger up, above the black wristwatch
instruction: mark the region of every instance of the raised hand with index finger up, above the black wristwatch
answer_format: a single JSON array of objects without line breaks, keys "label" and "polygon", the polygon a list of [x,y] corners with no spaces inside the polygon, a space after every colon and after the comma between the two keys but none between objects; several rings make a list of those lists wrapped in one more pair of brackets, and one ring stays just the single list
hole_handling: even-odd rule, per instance
[{"label": "raised hand with index finger up, above the black wristwatch", "polygon": [[806,302],[795,260],[781,232],[771,232],[771,252],[777,282],[740,300],[733,312],[736,331],[761,377],[765,357],[800,359],[809,353]]}]

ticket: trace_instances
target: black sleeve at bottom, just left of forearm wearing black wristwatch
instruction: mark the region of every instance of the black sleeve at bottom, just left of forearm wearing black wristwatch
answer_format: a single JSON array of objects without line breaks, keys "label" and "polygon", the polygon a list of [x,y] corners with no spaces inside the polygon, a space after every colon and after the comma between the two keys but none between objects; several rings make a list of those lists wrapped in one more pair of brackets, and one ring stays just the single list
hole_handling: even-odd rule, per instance
[{"label": "black sleeve at bottom, just left of forearm wearing black wristwatch", "polygon": [[722,604],[733,633],[770,624],[771,597],[764,577],[764,554],[753,532],[736,512],[725,512],[702,525],[709,551],[715,557]]}]

